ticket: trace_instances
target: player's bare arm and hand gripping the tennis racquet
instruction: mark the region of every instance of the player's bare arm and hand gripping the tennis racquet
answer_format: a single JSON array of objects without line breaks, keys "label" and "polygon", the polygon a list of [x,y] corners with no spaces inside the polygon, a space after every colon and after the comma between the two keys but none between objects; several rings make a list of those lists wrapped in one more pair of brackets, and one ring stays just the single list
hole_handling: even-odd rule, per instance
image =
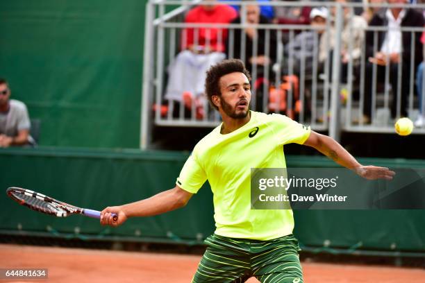
[{"label": "player's bare arm and hand gripping the tennis racquet", "polygon": [[[184,207],[193,194],[181,189],[181,187],[174,187],[168,191],[160,192],[155,196],[139,200],[135,203],[128,203],[126,205],[119,205],[115,207],[106,207],[101,211],[102,225],[118,226],[124,223],[130,217],[143,217],[163,214],[165,212]],[[113,221],[112,214],[117,214],[117,221]]]}]

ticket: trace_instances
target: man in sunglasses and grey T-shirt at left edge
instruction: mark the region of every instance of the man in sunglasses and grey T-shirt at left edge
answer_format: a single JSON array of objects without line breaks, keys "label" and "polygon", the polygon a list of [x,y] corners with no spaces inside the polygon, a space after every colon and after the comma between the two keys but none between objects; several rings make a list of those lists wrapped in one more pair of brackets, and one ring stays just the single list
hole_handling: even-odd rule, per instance
[{"label": "man in sunglasses and grey T-shirt at left edge", "polygon": [[30,126],[25,104],[10,99],[8,82],[0,78],[0,147],[29,144]]}]

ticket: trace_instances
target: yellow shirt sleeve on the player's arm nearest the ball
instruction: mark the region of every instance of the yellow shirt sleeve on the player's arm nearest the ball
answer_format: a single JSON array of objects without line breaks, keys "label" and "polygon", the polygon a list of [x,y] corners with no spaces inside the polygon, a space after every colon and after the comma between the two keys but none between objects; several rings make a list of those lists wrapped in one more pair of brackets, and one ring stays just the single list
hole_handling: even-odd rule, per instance
[{"label": "yellow shirt sleeve on the player's arm nearest the ball", "polygon": [[272,123],[278,144],[303,144],[310,136],[310,127],[281,114],[272,114]]}]

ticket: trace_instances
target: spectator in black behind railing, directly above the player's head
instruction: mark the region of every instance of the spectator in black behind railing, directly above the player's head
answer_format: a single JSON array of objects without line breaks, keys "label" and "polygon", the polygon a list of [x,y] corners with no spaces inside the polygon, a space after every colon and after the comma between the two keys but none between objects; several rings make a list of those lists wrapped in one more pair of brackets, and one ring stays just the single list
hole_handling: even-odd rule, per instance
[{"label": "spectator in black behind railing, directly above the player's head", "polygon": [[[270,21],[266,17],[260,15],[260,7],[258,5],[247,5],[246,6],[246,19],[247,24],[269,24]],[[232,24],[241,24],[242,17],[237,17],[233,20]],[[234,37],[226,40],[226,52],[227,55],[233,54],[233,58],[241,59],[244,58],[244,63],[247,69],[252,73],[253,67],[256,67],[256,78],[259,78],[254,83],[256,89],[261,89],[259,83],[261,80],[265,81],[265,69],[269,70],[269,74],[272,74],[272,66],[276,62],[276,31],[269,30],[269,50],[266,51],[266,33],[267,30],[263,28],[245,28],[245,50],[241,50],[242,42],[242,29],[235,30]],[[233,50],[231,50],[231,41],[233,40]],[[253,53],[254,42],[257,44],[256,53]],[[252,74],[251,74],[252,75]],[[269,75],[270,76],[270,75]],[[254,79],[256,79],[254,78]],[[263,99],[260,98],[261,94],[256,93],[256,109],[261,111]]]}]

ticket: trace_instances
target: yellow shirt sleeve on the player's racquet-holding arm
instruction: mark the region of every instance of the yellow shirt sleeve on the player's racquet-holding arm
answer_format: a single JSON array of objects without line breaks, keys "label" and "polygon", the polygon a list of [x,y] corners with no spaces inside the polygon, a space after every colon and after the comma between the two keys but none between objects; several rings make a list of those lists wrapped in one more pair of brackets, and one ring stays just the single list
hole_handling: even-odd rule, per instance
[{"label": "yellow shirt sleeve on the player's racquet-holding arm", "polygon": [[183,165],[180,175],[176,180],[176,185],[185,191],[196,194],[206,179],[206,173],[198,162],[196,152],[193,151]]}]

